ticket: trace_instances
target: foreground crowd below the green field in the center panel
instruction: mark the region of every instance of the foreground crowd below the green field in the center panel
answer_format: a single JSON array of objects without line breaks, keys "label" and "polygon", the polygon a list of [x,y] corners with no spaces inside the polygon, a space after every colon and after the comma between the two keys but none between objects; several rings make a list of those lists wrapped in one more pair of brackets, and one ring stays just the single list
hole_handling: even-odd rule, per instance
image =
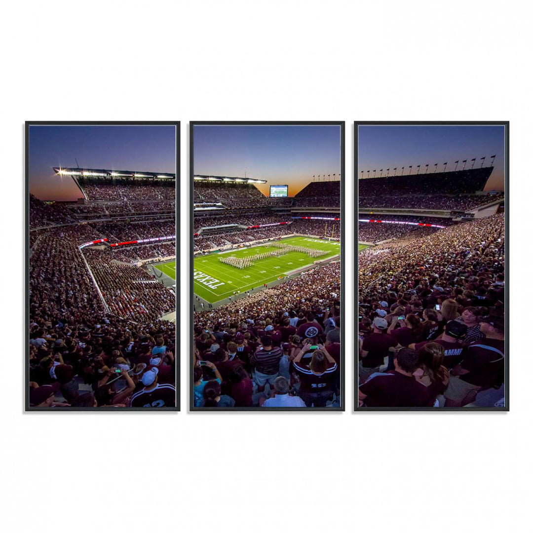
[{"label": "foreground crowd below the green field in the center panel", "polygon": [[338,406],[340,294],[333,262],[195,312],[195,406]]}]

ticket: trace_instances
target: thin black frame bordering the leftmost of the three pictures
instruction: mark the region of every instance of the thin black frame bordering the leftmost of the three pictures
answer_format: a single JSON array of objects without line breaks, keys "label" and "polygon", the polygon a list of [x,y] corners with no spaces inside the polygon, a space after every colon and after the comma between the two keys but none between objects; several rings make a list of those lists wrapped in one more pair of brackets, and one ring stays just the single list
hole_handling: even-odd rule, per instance
[{"label": "thin black frame bordering the leftmost of the three pictures", "polygon": [[[176,405],[175,407],[160,407],[149,409],[146,407],[68,407],[68,408],[53,408],[53,407],[32,407],[29,405],[29,156],[30,156],[30,147],[29,147],[29,133],[31,126],[174,126],[175,127],[175,154],[176,154],[176,187],[175,187],[175,198],[176,198],[176,213],[175,213],[175,227],[176,227],[176,264],[180,263],[180,232],[179,232],[179,204],[180,204],[180,128],[181,123],[179,120],[171,121],[122,121],[122,120],[27,120],[25,122],[25,263],[26,263],[26,275],[25,275],[25,286],[23,287],[23,292],[25,294],[25,375],[24,375],[24,390],[25,390],[25,412],[26,413],[72,413],[72,412],[108,412],[108,413],[176,413],[180,411],[180,357],[179,351],[176,349]],[[177,272],[177,271],[176,271]],[[179,279],[177,279],[176,273],[176,341],[180,338],[180,284]],[[177,346],[177,344],[176,344]]]}]

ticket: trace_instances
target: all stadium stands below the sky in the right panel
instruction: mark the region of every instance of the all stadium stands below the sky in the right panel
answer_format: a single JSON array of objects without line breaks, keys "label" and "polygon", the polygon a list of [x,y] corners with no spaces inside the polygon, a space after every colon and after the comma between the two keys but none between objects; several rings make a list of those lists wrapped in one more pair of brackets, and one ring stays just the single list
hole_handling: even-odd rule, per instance
[{"label": "all stadium stands below the sky in the right panel", "polygon": [[492,169],[361,172],[360,407],[503,405],[505,195],[484,191]]}]

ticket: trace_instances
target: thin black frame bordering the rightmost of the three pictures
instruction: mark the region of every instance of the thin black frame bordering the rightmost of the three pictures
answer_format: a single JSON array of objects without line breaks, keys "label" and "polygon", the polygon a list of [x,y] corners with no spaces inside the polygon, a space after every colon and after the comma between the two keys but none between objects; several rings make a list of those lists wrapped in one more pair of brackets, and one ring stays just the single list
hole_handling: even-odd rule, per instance
[{"label": "thin black frame bordering the rightmost of the three pictures", "polygon": [[[354,202],[356,206],[357,218],[354,220],[354,253],[356,254],[356,270],[354,272],[354,288],[355,301],[354,305],[359,304],[359,284],[358,284],[358,269],[359,269],[359,253],[356,245],[359,242],[359,126],[504,126],[505,135],[505,406],[504,407],[359,407],[358,401],[358,387],[359,387],[359,362],[358,350],[354,350],[354,406],[353,409],[359,413],[375,413],[376,411],[385,412],[423,412],[423,413],[506,413],[509,411],[509,211],[508,211],[508,194],[509,194],[509,121],[508,120],[356,120],[354,122],[354,143],[353,143],[353,177],[354,177]],[[354,313],[354,332],[356,338],[359,338],[359,314]],[[356,345],[357,346],[357,345]]]}]

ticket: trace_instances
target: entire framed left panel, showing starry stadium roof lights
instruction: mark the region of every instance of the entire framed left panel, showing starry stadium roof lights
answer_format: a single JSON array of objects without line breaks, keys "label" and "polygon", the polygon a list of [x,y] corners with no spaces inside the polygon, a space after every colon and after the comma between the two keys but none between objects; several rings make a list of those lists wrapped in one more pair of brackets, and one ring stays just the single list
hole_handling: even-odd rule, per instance
[{"label": "entire framed left panel, showing starry stadium roof lights", "polygon": [[26,410],[179,409],[179,122],[26,123]]}]

